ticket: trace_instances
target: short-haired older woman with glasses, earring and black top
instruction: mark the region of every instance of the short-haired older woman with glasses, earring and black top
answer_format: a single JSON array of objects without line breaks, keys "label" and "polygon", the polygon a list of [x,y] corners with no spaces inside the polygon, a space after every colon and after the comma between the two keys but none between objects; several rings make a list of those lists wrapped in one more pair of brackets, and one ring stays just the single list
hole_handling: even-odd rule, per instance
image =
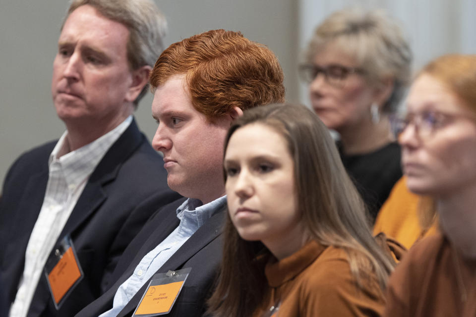
[{"label": "short-haired older woman with glasses, earring and black top", "polygon": [[343,10],[316,28],[305,58],[312,107],[339,133],[344,166],[374,219],[402,176],[389,115],[409,80],[409,45],[383,12]]}]

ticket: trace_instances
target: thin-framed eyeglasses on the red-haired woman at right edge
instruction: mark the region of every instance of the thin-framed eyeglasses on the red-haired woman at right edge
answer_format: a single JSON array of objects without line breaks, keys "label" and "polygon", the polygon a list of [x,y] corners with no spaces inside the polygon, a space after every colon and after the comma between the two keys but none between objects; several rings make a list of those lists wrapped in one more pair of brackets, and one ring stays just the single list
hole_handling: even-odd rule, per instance
[{"label": "thin-framed eyeglasses on the red-haired woman at right edge", "polygon": [[427,110],[418,113],[408,113],[403,118],[396,118],[394,120],[394,131],[397,138],[400,138],[405,129],[409,125],[413,125],[416,135],[419,138],[426,139],[436,130],[458,118],[476,121],[476,116],[468,115],[467,113]]}]

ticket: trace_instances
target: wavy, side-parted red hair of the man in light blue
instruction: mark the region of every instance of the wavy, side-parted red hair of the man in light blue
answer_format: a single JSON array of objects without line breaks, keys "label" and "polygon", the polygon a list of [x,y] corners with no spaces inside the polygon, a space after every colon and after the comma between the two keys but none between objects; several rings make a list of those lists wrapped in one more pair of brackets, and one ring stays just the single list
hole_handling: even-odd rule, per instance
[{"label": "wavy, side-parted red hair of the man in light blue", "polygon": [[185,74],[193,106],[209,120],[269,103],[284,102],[283,71],[264,45],[240,32],[211,30],[167,48],[155,63],[153,88]]}]

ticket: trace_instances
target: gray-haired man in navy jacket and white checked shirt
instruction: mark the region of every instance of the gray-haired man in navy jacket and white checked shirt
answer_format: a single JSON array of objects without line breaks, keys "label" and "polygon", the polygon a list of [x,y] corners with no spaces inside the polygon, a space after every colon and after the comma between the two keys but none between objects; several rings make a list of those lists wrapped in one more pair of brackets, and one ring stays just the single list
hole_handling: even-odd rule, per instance
[{"label": "gray-haired man in navy jacket and white checked shirt", "polygon": [[1,314],[73,316],[150,216],[137,205],[179,198],[132,117],[165,29],[152,0],[72,1],[52,79],[66,131],[14,162],[0,198]]}]

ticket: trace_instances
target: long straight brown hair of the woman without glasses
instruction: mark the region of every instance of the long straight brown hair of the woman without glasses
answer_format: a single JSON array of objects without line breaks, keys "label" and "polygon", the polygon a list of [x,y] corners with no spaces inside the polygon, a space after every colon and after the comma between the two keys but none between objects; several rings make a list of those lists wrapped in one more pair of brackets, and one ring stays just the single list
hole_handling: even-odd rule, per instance
[{"label": "long straight brown hair of the woman without glasses", "polygon": [[[250,109],[230,127],[225,152],[233,133],[251,123],[269,126],[287,140],[294,160],[297,208],[310,239],[346,250],[357,283],[376,279],[384,289],[394,262],[373,239],[364,204],[317,115],[305,106],[289,104]],[[215,316],[251,316],[266,292],[264,265],[270,252],[261,242],[241,239],[230,215],[223,250],[209,311]]]}]

